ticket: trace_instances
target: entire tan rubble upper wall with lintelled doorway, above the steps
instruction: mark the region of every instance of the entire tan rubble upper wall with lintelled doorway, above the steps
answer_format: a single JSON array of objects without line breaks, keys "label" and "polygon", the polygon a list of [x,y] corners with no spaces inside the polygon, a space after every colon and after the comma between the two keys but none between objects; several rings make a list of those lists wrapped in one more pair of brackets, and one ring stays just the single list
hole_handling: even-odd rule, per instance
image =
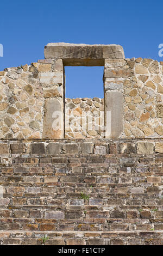
[{"label": "entire tan rubble upper wall with lintelled doorway, above the steps", "polygon": [[[125,59],[121,47],[115,47],[50,44],[45,56],[51,53],[51,58],[1,71],[0,138],[162,137],[163,63]],[[104,65],[104,99],[65,100],[64,65],[68,64]],[[86,122],[78,121],[77,129],[79,115]],[[87,127],[81,126],[84,123]]]}]

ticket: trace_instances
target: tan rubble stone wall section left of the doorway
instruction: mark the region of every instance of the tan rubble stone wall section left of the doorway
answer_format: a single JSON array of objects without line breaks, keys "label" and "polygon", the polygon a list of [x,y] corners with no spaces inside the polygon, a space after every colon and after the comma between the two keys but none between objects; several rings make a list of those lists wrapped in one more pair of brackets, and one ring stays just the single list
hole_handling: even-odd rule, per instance
[{"label": "tan rubble stone wall section left of the doorway", "polygon": [[[30,66],[4,69],[0,92],[0,138],[55,138],[54,118],[48,116],[47,109],[59,110],[60,119],[64,118],[62,60],[39,60]],[[59,131],[57,137],[63,134]]]}]

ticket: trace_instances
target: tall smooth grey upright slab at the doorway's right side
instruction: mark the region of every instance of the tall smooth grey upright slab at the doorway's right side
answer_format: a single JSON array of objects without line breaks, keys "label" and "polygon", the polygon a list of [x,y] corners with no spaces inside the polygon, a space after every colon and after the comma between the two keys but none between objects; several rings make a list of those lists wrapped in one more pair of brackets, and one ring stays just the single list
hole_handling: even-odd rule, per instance
[{"label": "tall smooth grey upright slab at the doorway's right side", "polygon": [[105,137],[118,138],[123,131],[123,94],[105,93]]}]

